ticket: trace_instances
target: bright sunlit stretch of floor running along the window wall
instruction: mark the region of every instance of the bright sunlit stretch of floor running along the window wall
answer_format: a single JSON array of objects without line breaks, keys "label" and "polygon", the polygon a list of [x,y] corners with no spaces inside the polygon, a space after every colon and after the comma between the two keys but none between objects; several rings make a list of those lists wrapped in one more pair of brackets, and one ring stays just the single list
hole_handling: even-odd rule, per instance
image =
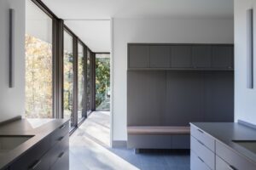
[{"label": "bright sunlit stretch of floor running along the window wall", "polygon": [[109,112],[93,112],[70,138],[70,169],[139,170],[109,148]]}]

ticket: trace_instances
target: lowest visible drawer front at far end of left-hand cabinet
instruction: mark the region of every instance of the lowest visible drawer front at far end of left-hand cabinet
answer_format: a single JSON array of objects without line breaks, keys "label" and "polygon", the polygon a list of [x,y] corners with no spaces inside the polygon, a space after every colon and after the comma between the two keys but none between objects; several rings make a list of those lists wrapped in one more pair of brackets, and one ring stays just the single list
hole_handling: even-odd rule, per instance
[{"label": "lowest visible drawer front at far end of left-hand cabinet", "polygon": [[58,157],[55,164],[50,167],[50,170],[68,170],[69,169],[69,150],[66,150]]}]

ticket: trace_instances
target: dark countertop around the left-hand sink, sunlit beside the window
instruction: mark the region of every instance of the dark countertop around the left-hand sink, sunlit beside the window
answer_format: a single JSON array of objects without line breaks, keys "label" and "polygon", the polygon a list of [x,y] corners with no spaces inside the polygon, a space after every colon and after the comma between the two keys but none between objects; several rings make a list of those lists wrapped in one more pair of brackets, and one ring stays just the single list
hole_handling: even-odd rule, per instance
[{"label": "dark countertop around the left-hand sink, sunlit beside the window", "polygon": [[68,122],[65,119],[20,119],[0,126],[0,135],[28,135],[31,139],[20,144],[14,150],[0,154],[0,169],[7,168],[12,162],[38,144],[56,128]]}]

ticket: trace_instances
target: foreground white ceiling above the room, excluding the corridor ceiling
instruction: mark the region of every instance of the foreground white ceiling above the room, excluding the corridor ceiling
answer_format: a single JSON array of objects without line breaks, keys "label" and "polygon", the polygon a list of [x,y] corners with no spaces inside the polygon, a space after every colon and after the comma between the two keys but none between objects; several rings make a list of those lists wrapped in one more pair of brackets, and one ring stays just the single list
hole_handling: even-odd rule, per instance
[{"label": "foreground white ceiling above the room, excluding the corridor ceiling", "polygon": [[233,0],[43,0],[63,20],[231,18]]}]

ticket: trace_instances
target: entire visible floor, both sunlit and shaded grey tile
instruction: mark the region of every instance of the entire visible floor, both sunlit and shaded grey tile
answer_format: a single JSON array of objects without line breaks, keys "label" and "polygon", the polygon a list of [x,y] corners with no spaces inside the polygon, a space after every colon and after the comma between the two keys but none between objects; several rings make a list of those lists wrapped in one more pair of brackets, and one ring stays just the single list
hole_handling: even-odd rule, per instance
[{"label": "entire visible floor, both sunlit and shaded grey tile", "polygon": [[70,137],[70,170],[189,170],[189,151],[109,147],[109,112],[93,112]]}]

